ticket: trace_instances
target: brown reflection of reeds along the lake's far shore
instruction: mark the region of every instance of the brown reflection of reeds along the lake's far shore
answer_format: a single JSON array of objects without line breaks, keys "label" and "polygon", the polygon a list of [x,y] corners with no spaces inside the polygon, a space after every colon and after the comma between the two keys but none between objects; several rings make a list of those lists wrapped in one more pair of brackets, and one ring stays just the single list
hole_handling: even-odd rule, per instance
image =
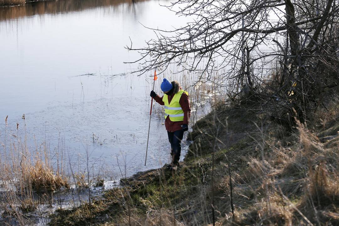
[{"label": "brown reflection of reeds along the lake's far shore", "polygon": [[[59,1],[37,1],[15,7],[0,7],[0,21],[10,20],[18,17],[42,15],[42,14],[60,14],[67,12],[83,11],[86,9],[116,6],[112,7],[114,11],[121,11],[123,5],[124,11],[128,10],[136,13],[135,4],[148,0],[59,0]],[[112,13],[112,12],[111,12]]]}]

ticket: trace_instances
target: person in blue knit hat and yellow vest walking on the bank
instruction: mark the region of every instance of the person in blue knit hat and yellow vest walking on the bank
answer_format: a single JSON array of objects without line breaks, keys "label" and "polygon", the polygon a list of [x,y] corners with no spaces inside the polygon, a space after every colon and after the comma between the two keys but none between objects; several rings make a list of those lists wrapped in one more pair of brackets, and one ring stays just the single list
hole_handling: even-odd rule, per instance
[{"label": "person in blue knit hat and yellow vest walking on the bank", "polygon": [[164,78],[160,88],[164,93],[162,97],[153,90],[150,96],[160,105],[165,105],[165,128],[171,144],[171,164],[167,168],[177,170],[181,154],[181,140],[184,132],[188,131],[191,116],[190,100],[188,93],[180,87],[178,81],[170,82]]}]

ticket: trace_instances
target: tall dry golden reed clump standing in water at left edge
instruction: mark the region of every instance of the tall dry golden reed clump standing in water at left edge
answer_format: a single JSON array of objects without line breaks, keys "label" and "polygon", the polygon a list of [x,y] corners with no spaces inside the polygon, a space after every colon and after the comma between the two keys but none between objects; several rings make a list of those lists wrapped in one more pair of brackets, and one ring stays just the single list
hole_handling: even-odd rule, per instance
[{"label": "tall dry golden reed clump standing in water at left edge", "polygon": [[[5,135],[7,129],[7,118],[5,119]],[[24,131],[26,131],[25,115]],[[21,195],[33,197],[34,191],[55,191],[61,187],[69,188],[69,181],[65,176],[65,157],[64,143],[61,140],[56,149],[56,156],[43,142],[40,146],[36,145],[35,150],[29,150],[27,144],[27,135],[21,140],[19,136],[19,123],[17,123],[17,134],[11,134],[14,140],[4,140],[4,156],[0,158],[1,171],[0,179],[5,181],[4,190],[17,190]],[[9,145],[6,145],[8,142]],[[36,140],[35,140],[36,143]],[[7,147],[8,146],[8,147]],[[55,161],[55,162],[52,162]],[[56,164],[56,169],[53,165]]]}]

